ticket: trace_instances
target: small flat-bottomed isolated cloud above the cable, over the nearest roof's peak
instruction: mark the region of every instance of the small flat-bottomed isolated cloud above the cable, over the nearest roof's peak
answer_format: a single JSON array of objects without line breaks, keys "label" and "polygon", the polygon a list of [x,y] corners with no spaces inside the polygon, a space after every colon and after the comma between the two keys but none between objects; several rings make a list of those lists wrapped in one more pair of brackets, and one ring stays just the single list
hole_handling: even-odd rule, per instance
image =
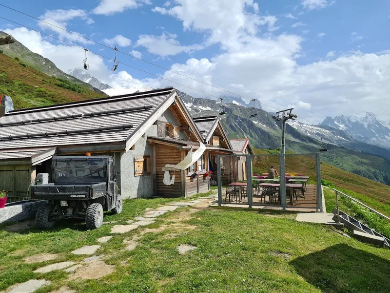
[{"label": "small flat-bottomed isolated cloud above the cable, over the nearest roof's peak", "polygon": [[137,41],[137,46],[145,47],[149,53],[160,57],[173,56],[182,52],[192,52],[203,48],[201,45],[182,46],[176,40],[174,34],[162,34],[161,36],[140,35]]}]

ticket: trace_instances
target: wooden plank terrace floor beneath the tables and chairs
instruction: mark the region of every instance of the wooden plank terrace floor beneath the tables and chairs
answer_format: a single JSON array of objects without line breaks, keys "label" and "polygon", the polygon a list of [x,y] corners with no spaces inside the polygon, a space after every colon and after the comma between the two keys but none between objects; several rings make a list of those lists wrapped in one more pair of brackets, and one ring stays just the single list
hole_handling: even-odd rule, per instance
[{"label": "wooden plank terrace floor beneath the tables and chairs", "polygon": [[[261,192],[261,190],[260,190]],[[234,205],[234,206],[240,206],[240,205],[248,205],[248,197],[242,198],[241,201],[238,200],[232,200],[229,201],[229,196],[227,197],[227,200],[225,201],[225,188],[222,190],[222,204],[226,206]],[[298,192],[298,201],[296,200],[295,196],[293,198],[293,204],[290,203],[290,198],[287,197],[287,209],[307,209],[307,211],[315,211],[317,207],[317,186],[316,185],[307,185],[307,190],[305,190],[305,198],[302,197],[302,195]],[[275,205],[274,203],[269,202],[268,196],[264,197],[263,201],[260,201],[261,196],[260,194],[254,194],[253,195],[253,207],[260,206],[265,209],[281,209],[281,205]]]}]

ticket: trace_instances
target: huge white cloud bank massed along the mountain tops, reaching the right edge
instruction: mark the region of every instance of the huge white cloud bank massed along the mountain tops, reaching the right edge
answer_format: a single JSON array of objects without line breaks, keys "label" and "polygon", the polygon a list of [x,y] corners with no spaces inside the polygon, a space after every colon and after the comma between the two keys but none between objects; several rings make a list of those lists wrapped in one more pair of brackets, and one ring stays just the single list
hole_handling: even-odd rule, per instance
[{"label": "huge white cloud bank massed along the mountain tops, reaching the right edge", "polygon": [[[174,8],[172,7],[166,10],[165,15],[180,19],[184,29],[206,35],[207,42],[221,44],[221,50],[210,59],[190,58],[186,62],[172,64],[170,69],[173,71],[248,98],[258,98],[269,111],[274,109],[265,105],[277,108],[295,105],[298,116],[316,123],[321,122],[327,115],[351,115],[360,110],[371,111],[380,119],[388,120],[389,52],[367,54],[355,51],[334,60],[332,58],[302,65],[297,63],[296,56],[305,53],[301,48],[303,38],[289,33],[262,33],[264,26],[260,24],[261,16],[253,13],[253,5],[250,5],[249,0],[249,4],[240,2],[241,6],[235,6],[233,10],[224,1],[215,0],[215,7],[211,7],[212,13],[205,9],[196,9],[202,7],[203,1],[206,0],[191,0],[188,4],[186,0],[176,0],[174,7],[180,6],[177,8],[178,12],[170,11]],[[177,4],[179,2],[185,3],[186,8]],[[235,2],[234,5],[237,5]],[[189,13],[181,14],[180,9]],[[210,19],[214,13],[215,17]],[[237,19],[241,21],[239,24]],[[33,38],[35,35],[32,32],[17,35],[17,30],[10,30],[9,33],[28,48],[51,59],[60,69],[66,71],[68,68],[81,66],[82,50],[50,44],[39,35]],[[176,40],[174,36],[167,35],[166,38]],[[176,43],[177,45],[183,46]],[[108,68],[101,58],[94,55],[89,58],[90,72],[102,82],[123,92],[173,85],[194,97],[208,97],[159,78],[139,80],[136,73],[130,75],[125,71],[112,74],[111,66]],[[119,66],[119,70],[127,68],[124,64]],[[96,73],[92,70],[96,70]],[[161,74],[169,80],[215,96],[226,95],[226,92],[217,88],[174,72],[166,71]]]}]

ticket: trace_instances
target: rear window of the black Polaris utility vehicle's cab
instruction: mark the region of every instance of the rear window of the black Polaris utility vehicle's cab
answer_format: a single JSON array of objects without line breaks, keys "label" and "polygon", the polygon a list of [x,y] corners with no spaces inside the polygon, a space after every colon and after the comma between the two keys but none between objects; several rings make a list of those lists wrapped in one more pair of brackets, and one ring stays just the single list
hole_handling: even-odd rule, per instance
[{"label": "rear window of the black Polaris utility vehicle's cab", "polygon": [[106,160],[55,160],[52,163],[53,182],[89,183],[106,182]]}]

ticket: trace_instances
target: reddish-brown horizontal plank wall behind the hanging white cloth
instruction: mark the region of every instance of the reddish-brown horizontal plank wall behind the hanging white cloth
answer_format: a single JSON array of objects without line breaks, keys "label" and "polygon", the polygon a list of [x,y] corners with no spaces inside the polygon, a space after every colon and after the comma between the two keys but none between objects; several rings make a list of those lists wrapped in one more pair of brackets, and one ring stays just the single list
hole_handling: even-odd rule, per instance
[{"label": "reddish-brown horizontal plank wall behind the hanging white cloth", "polygon": [[[181,197],[184,196],[182,193],[182,174],[184,171],[175,172],[175,184],[165,185],[164,172],[161,171],[162,167],[166,164],[176,165],[181,161],[181,151],[177,150],[174,146],[166,146],[156,144],[156,196],[161,197]],[[169,172],[172,176],[174,171]]]}]

